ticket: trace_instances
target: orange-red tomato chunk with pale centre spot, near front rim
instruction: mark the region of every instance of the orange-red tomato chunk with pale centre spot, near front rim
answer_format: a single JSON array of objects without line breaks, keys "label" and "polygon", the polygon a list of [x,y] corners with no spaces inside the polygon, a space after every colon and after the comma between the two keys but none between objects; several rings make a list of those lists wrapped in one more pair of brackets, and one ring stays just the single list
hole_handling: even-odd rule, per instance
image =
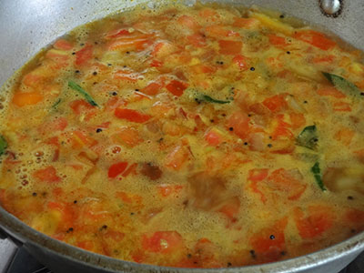
[{"label": "orange-red tomato chunk with pale centre spot, near front rim", "polygon": [[147,251],[166,254],[184,248],[184,242],[177,231],[157,231],[152,236],[144,235],[142,246]]}]

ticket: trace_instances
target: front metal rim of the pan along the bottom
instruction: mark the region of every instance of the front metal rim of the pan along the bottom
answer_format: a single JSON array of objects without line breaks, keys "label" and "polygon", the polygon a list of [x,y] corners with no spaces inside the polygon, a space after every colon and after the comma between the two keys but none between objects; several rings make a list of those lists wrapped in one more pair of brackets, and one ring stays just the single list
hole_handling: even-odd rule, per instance
[{"label": "front metal rim of the pan along the bottom", "polygon": [[360,233],[330,248],[276,263],[243,268],[165,268],[126,262],[75,248],[26,226],[2,207],[0,207],[0,223],[8,237],[15,240],[17,244],[25,246],[35,258],[57,273],[335,273],[347,266],[364,249],[364,233]]}]

